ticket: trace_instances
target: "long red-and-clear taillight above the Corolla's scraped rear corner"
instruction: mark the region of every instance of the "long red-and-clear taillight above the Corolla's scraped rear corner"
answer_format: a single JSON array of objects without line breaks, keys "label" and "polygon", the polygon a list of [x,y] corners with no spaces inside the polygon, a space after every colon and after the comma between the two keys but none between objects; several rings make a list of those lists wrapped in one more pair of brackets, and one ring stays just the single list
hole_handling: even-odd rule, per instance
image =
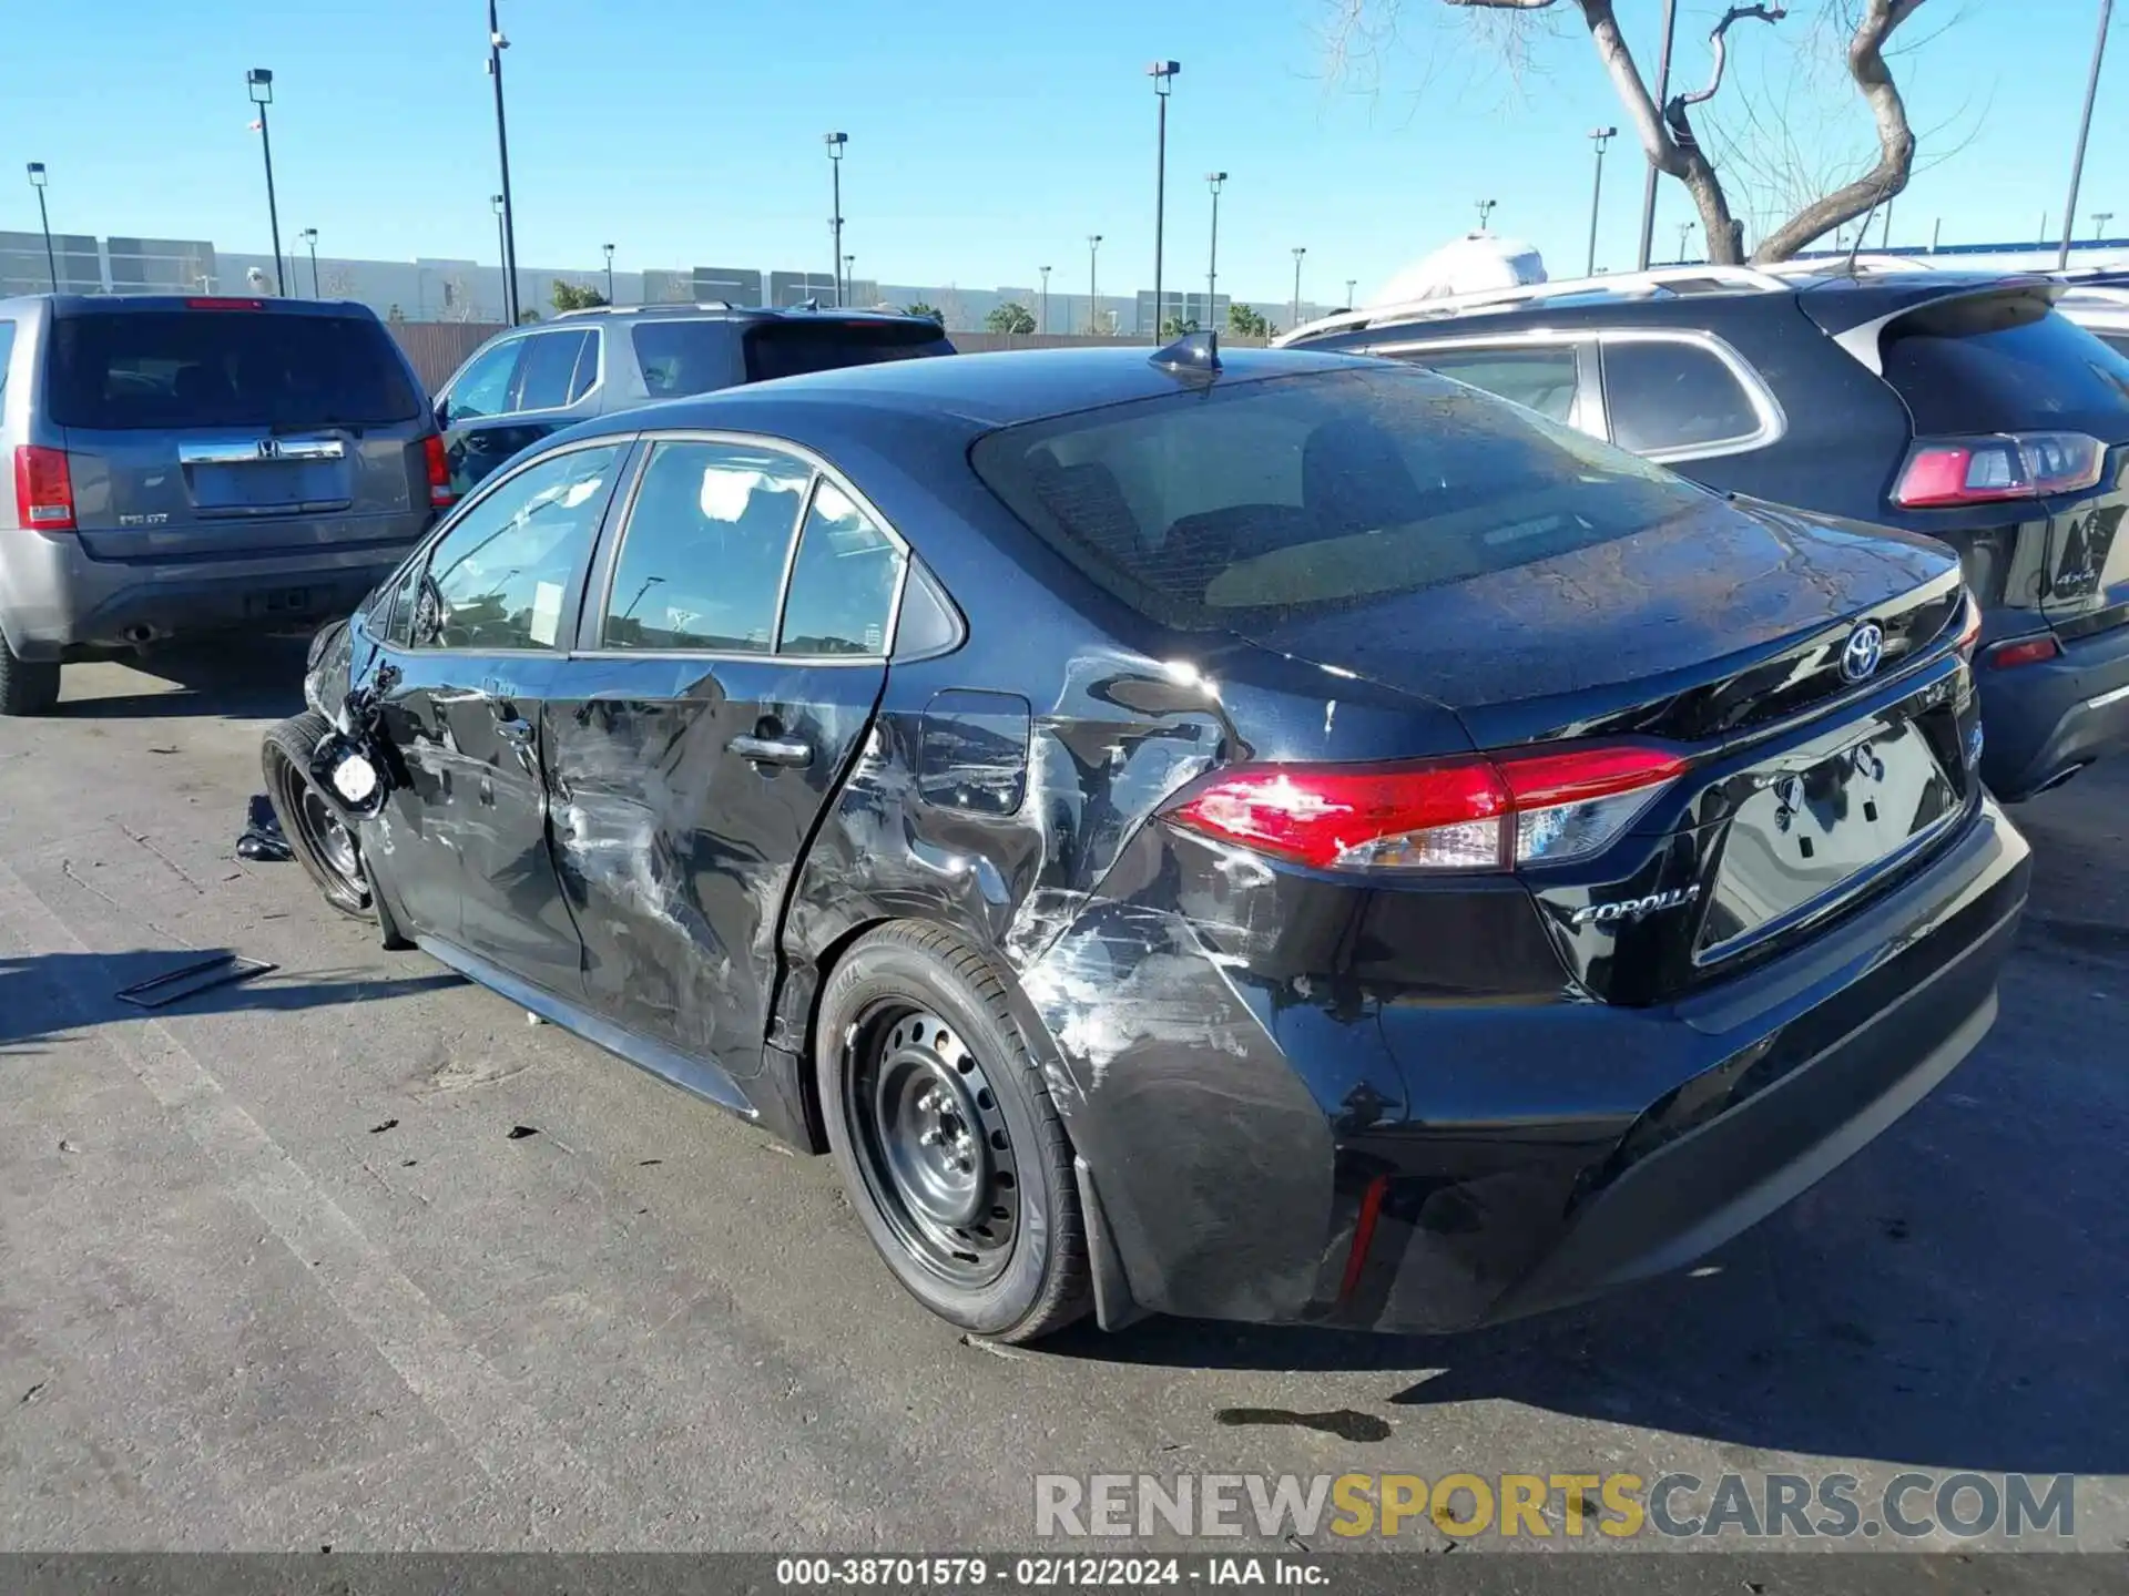
[{"label": "long red-and-clear taillight above the Corolla's scraped rear corner", "polygon": [[1684,768],[1627,743],[1401,766],[1245,764],[1162,813],[1318,870],[1512,870],[1597,853]]}]

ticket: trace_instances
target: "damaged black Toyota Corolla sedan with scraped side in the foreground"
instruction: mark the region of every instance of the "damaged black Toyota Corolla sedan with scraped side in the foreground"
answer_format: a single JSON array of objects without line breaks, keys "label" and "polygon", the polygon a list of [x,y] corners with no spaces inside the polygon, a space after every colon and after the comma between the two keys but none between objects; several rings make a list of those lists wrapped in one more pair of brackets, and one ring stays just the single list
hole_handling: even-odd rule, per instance
[{"label": "damaged black Toyota Corolla sedan with scraped side in the foreground", "polygon": [[832,1151],[958,1326],[1450,1330],[1720,1243],[1988,1028],[1974,619],[1418,370],[928,360],[522,455],[266,770],[332,902]]}]

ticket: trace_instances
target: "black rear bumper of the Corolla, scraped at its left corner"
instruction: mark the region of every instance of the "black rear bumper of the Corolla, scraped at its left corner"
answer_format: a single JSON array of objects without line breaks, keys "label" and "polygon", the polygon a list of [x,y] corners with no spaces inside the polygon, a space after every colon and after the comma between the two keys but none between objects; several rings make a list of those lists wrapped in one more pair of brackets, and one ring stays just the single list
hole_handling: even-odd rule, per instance
[{"label": "black rear bumper of the Corolla, scraped at its left corner", "polygon": [[1869,1143],[1988,1030],[2027,877],[1984,802],[1814,945],[1650,1009],[1271,992],[1171,943],[1118,1051],[1071,934],[1026,985],[1135,1307],[1450,1332],[1676,1268]]}]

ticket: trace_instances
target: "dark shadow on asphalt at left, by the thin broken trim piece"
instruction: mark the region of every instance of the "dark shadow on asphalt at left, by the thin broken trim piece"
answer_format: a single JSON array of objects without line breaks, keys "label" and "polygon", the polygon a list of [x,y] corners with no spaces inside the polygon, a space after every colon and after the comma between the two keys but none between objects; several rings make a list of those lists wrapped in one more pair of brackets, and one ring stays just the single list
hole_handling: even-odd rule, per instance
[{"label": "dark shadow on asphalt at left, by the thin broken trim piece", "polygon": [[[0,1055],[45,1051],[45,1043],[115,1019],[158,1019],[213,1013],[296,1013],[341,1002],[411,998],[464,985],[445,972],[370,977],[360,970],[268,970],[249,981],[196,992],[164,1009],[141,1009],[117,998],[138,981],[198,964],[230,949],[145,947],[126,953],[32,953],[0,958]],[[87,996],[87,994],[96,996]]]}]

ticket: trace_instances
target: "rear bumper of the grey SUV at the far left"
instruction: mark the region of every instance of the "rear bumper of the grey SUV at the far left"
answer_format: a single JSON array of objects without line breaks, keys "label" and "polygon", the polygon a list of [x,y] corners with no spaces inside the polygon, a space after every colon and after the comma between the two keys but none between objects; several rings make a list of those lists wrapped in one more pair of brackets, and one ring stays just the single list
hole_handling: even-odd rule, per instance
[{"label": "rear bumper of the grey SUV at the far left", "polygon": [[0,549],[0,630],[23,660],[62,660],[194,632],[279,630],[345,615],[426,532],[255,560],[92,560],[68,534],[11,534]]}]

